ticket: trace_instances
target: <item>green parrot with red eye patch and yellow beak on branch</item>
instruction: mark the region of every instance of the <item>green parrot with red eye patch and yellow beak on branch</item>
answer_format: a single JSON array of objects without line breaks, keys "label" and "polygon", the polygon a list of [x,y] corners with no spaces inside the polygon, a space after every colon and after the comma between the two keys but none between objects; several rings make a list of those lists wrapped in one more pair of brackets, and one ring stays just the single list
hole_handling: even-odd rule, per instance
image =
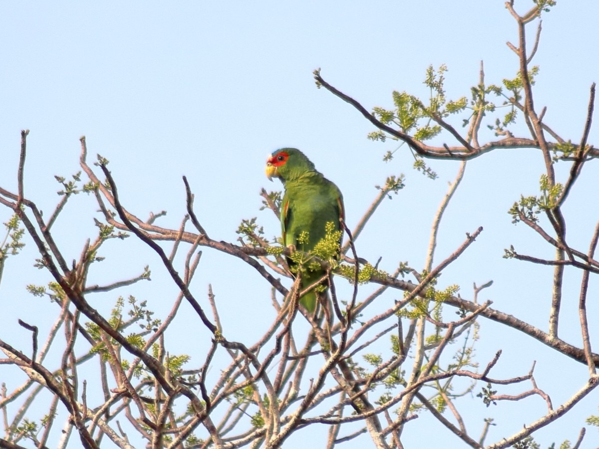
[{"label": "green parrot with red eye patch and yellow beak on branch", "polygon": [[[285,186],[281,203],[282,240],[285,247],[292,245],[298,251],[311,251],[326,235],[326,223],[332,222],[334,230],[341,230],[343,196],[334,183],[314,168],[304,153],[296,148],[280,148],[268,156],[266,175],[269,180],[279,178]],[[299,236],[308,232],[308,242],[298,242]],[[341,239],[339,241],[341,245]],[[290,267],[294,262],[287,260]],[[302,272],[301,288],[305,289],[322,278],[323,269]],[[326,280],[323,282],[326,286]],[[316,292],[310,290],[300,303],[313,314],[316,310]]]}]

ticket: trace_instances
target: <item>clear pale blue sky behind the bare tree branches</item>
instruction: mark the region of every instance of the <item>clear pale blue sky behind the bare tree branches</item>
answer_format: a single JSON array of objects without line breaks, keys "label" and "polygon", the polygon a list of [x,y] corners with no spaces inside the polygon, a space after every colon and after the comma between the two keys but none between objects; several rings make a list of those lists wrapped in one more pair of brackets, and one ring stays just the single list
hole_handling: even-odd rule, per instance
[{"label": "clear pale blue sky behind the bare tree branches", "polygon": [[[521,13],[531,5],[516,1]],[[598,9],[591,0],[559,1],[544,16],[534,60],[541,68],[534,86],[536,104],[547,106],[547,124],[575,142],[582,134],[589,86],[599,78]],[[535,31],[529,28],[529,45]],[[316,89],[312,71],[321,68],[325,80],[368,109],[391,108],[392,90],[426,98],[422,84],[426,67],[445,63],[447,97],[458,99],[470,95],[481,60],[488,83],[515,77],[518,62],[506,41],[517,43],[516,25],[500,0],[2,2],[0,186],[16,190],[20,130],[30,129],[25,194],[48,216],[59,199],[60,186],[53,175],[79,171],[78,138],[86,135],[90,161],[96,153],[110,160],[122,202],[132,213],[147,217],[167,210],[158,224],[179,227],[185,213],[181,175],[186,175],[196,194],[199,220],[211,238],[235,241],[241,219],[255,216],[267,236],[274,236],[279,223],[273,214],[259,211],[258,193],[261,187],[281,186],[264,177],[265,158],[276,148],[294,146],[340,187],[350,227],[376,196],[376,184],[383,184],[388,175],[406,174],[406,188],[382,205],[359,238],[358,253],[371,262],[382,256],[381,268],[388,271],[402,260],[422,269],[432,217],[458,164],[430,162],[439,174],[431,181],[413,171],[405,147],[392,162],[383,162],[383,154],[395,150],[397,142],[368,141],[373,127],[350,105]],[[494,117],[487,117],[485,126],[492,122]],[[491,138],[491,133],[483,132],[480,141]],[[454,143],[447,136],[436,141],[443,142]],[[596,127],[589,142],[597,142]],[[557,170],[564,180],[568,166],[558,163]],[[494,151],[468,163],[444,217],[435,260],[452,253],[465,232],[483,226],[476,244],[444,272],[440,284],[457,283],[461,295],[470,299],[473,282],[494,280],[481,299],[491,299],[492,307],[546,330],[552,270],[501,257],[510,244],[521,253],[553,256],[531,230],[513,226],[507,214],[521,194],[538,192],[542,172],[542,157],[534,150]],[[564,209],[569,243],[585,252],[598,219],[598,175],[592,164],[585,166]],[[56,223],[55,238],[68,260],[78,259],[84,241],[96,236],[92,220],[96,209],[92,197],[79,195]],[[10,211],[0,209],[1,221],[8,217]],[[133,240],[105,245],[102,255],[107,260],[94,267],[90,283],[133,277],[149,263],[152,283],[120,294],[147,299],[164,317],[161,314],[168,312],[176,290],[158,257]],[[32,268],[36,254],[28,243],[21,256],[8,261],[0,288],[0,338],[26,352],[30,335],[17,318],[43,330],[58,314],[55,305],[25,291],[26,284],[49,281],[46,272]],[[561,321],[562,338],[577,345],[579,282],[580,273],[571,271]],[[223,311],[227,338],[253,342],[273,319],[268,286],[243,262],[205,249],[193,282],[198,298],[205,298],[208,283]],[[364,292],[368,290],[364,287]],[[597,293],[591,285],[591,323],[599,313]],[[398,295],[393,293],[386,301]],[[108,311],[115,300],[98,296],[97,302],[91,301]],[[198,366],[204,360],[207,335],[200,329],[197,338],[190,337],[198,320],[190,313],[181,315],[174,326],[180,335],[173,332],[171,338],[181,339],[181,347],[193,357],[190,365]],[[585,382],[585,366],[555,359],[546,347],[516,331],[484,318],[480,323],[480,363],[486,365],[495,351],[503,349],[494,377],[527,374],[537,360],[537,383],[552,396],[555,407]],[[597,336],[591,337],[597,345]],[[171,345],[179,345],[173,341]],[[19,370],[0,365],[0,381],[9,391],[23,380]],[[513,393],[525,389],[528,385]],[[540,398],[491,409],[481,408],[479,399],[471,405],[468,401],[461,404],[472,409],[467,427],[474,435],[486,416],[495,416],[495,422],[506,426],[491,428],[488,442],[516,432],[544,413]],[[538,432],[537,441],[541,447],[575,441],[584,418],[596,414],[598,405],[594,392],[558,424]],[[461,445],[428,414],[420,415],[407,426],[406,447]],[[301,438],[308,436],[300,432],[286,447],[302,447]],[[51,439],[50,446],[58,438]],[[432,441],[425,443],[428,438]],[[369,442],[364,436],[345,447],[368,447]],[[71,447],[78,443],[72,438]],[[110,447],[108,440],[105,444]],[[588,429],[583,447],[598,444],[597,429]]]}]

